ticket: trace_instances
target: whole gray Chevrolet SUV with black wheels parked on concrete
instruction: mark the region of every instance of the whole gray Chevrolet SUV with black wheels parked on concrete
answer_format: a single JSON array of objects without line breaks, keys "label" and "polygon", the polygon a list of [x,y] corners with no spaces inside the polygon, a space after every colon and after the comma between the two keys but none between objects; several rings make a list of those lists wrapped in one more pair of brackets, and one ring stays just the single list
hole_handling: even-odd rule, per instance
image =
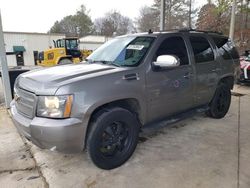
[{"label": "whole gray Chevrolet SUV with black wheels parked on concrete", "polygon": [[85,63],[34,70],[15,82],[13,121],[50,150],[87,149],[102,169],[122,165],[140,128],[201,106],[226,115],[239,56],[225,36],[177,30],[114,38]]}]

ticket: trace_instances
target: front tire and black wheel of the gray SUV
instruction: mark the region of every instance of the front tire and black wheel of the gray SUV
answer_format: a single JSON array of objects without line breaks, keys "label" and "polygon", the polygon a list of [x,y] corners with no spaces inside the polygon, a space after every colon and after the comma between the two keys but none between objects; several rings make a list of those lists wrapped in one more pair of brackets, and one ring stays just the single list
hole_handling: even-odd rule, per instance
[{"label": "front tire and black wheel of the gray SUV", "polygon": [[134,114],[119,107],[97,115],[90,125],[87,152],[97,167],[110,170],[121,166],[133,154],[140,124]]}]

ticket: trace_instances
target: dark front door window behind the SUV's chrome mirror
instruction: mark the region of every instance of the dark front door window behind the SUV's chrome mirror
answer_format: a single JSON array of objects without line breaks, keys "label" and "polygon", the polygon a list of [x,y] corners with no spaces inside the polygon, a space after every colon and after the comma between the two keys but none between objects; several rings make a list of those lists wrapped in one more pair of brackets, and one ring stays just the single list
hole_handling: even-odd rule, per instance
[{"label": "dark front door window behind the SUV's chrome mirror", "polygon": [[160,55],[175,55],[180,59],[181,65],[189,64],[187,48],[182,37],[165,39],[156,52],[156,57]]}]

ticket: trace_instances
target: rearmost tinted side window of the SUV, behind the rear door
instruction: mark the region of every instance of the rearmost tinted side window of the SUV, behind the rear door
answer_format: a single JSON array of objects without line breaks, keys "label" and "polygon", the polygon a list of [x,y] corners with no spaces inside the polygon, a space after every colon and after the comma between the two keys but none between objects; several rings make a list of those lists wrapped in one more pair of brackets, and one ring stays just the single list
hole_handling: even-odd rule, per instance
[{"label": "rearmost tinted side window of the SUV, behind the rear door", "polygon": [[233,43],[227,39],[222,37],[213,37],[215,45],[218,48],[218,53],[223,59],[238,59],[239,54],[234,47]]}]

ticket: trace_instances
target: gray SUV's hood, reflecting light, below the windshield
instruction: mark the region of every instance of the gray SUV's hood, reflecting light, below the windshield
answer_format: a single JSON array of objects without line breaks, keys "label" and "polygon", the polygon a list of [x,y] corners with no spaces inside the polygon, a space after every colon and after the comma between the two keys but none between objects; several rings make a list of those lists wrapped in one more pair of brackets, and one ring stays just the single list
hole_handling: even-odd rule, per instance
[{"label": "gray SUV's hood, reflecting light, below the windshield", "polygon": [[63,85],[117,72],[118,69],[118,67],[102,64],[75,64],[42,68],[21,74],[16,81],[16,87],[37,95],[54,95],[57,89]]}]

